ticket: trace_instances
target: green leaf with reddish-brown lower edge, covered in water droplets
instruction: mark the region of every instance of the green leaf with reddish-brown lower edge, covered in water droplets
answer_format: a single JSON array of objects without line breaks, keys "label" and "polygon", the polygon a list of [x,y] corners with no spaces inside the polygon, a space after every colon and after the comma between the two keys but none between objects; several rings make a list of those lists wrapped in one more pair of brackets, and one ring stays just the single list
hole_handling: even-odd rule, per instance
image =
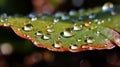
[{"label": "green leaf with reddish-brown lower edge, covered in water droplets", "polygon": [[[117,7],[116,15],[103,13],[100,7],[88,10],[83,12],[82,21],[78,20],[79,13],[62,19],[53,16],[1,18],[0,26],[12,28],[18,36],[51,51],[112,49],[120,46],[119,10]],[[96,17],[88,13],[95,13]]]}]

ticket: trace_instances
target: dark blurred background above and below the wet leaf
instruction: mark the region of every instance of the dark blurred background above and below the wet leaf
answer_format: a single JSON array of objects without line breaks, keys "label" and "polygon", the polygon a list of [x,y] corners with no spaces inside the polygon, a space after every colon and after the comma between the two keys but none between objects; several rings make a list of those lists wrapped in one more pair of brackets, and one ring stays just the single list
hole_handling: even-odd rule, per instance
[{"label": "dark blurred background above and below the wet leaf", "polygon": [[[89,9],[120,0],[0,0],[0,14],[39,15]],[[0,27],[0,67],[120,67],[120,48],[78,53],[52,52]]]}]

